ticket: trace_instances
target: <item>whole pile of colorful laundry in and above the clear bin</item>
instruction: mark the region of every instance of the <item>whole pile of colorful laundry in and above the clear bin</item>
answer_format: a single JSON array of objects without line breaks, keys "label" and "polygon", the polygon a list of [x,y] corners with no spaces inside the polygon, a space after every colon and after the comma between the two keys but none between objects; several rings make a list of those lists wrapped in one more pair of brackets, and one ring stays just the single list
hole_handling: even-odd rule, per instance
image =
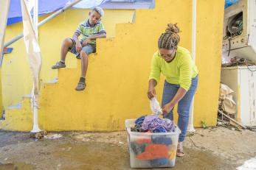
[{"label": "whole pile of colorful laundry in and above the clear bin", "polygon": [[174,132],[173,121],[159,118],[152,114],[137,118],[135,126],[131,127],[133,132],[145,132],[131,141],[131,152],[136,155],[136,160],[148,160],[151,167],[173,166],[176,157],[176,145],[173,144],[172,135],[151,134],[157,132]]}]

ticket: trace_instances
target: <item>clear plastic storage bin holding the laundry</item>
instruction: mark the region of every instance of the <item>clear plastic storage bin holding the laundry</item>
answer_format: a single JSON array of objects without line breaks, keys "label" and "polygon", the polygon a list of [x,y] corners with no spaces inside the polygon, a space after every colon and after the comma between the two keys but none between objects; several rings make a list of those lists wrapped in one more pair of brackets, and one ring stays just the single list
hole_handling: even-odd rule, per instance
[{"label": "clear plastic storage bin holding the laundry", "polygon": [[131,132],[135,120],[125,120],[131,168],[175,166],[176,149],[181,133],[179,127],[176,127],[175,132]]}]

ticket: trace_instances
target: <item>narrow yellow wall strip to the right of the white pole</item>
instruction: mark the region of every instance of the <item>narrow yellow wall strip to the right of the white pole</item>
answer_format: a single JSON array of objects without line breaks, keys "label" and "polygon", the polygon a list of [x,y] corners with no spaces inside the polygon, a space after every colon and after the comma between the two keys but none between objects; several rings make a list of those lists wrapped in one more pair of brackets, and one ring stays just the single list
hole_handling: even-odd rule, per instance
[{"label": "narrow yellow wall strip to the right of the white pole", "polygon": [[199,83],[196,93],[194,122],[217,123],[218,94],[221,79],[222,30],[224,0],[198,1],[196,64]]}]

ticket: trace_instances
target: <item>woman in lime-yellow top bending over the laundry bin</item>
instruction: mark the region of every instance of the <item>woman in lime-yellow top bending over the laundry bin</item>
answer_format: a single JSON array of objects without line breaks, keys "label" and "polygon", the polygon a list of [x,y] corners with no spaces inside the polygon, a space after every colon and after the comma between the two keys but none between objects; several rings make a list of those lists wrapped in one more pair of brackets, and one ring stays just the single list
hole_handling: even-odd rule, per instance
[{"label": "woman in lime-yellow top bending over the laundry bin", "polygon": [[173,107],[178,103],[178,127],[181,130],[177,156],[184,156],[182,142],[186,136],[189,110],[198,84],[198,69],[190,52],[179,44],[179,27],[168,24],[158,40],[159,50],[153,54],[148,83],[148,98],[156,95],[155,87],[162,73],[165,79],[162,96],[164,118],[173,120]]}]

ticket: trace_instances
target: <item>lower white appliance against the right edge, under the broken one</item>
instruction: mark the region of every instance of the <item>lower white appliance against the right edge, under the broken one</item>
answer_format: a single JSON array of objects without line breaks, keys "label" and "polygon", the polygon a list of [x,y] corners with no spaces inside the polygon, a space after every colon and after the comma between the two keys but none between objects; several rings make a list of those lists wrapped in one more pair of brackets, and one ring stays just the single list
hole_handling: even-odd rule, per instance
[{"label": "lower white appliance against the right edge, under the broken one", "polygon": [[256,66],[224,67],[221,82],[234,91],[236,119],[245,126],[256,126]]}]

